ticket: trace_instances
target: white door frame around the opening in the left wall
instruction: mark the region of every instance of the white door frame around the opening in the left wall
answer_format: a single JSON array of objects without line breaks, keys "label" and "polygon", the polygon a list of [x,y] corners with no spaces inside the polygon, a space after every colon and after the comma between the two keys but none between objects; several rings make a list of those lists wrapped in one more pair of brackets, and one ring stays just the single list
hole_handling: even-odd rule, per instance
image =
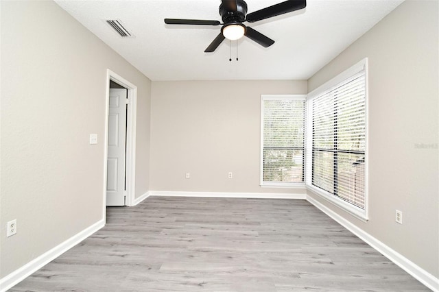
[{"label": "white door frame around the opening in the left wall", "polygon": [[134,188],[136,178],[136,115],[137,86],[107,69],[106,76],[106,110],[105,110],[105,145],[104,145],[104,218],[107,205],[107,159],[108,159],[108,112],[110,102],[110,80],[127,88],[129,99],[126,116],[126,206],[134,206]]}]

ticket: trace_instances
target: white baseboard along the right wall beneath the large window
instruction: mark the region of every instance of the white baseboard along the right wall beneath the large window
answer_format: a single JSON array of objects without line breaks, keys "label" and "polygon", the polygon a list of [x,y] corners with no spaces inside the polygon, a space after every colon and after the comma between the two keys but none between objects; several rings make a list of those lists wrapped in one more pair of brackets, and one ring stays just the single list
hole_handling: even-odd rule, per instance
[{"label": "white baseboard along the right wall beneath the large window", "polygon": [[340,223],[340,225],[342,225],[344,228],[346,228],[347,230],[351,231],[353,234],[358,236],[359,239],[366,242],[375,250],[383,254],[383,256],[385,256],[389,260],[392,260],[393,263],[401,267],[401,269],[403,269],[404,271],[407,271],[407,273],[410,273],[410,275],[416,278],[416,280],[418,280],[419,282],[423,283],[429,289],[439,292],[439,279],[431,275],[431,273],[428,273],[427,271],[425,271],[425,269],[422,269],[421,267],[413,263],[411,260],[405,258],[405,256],[399,254],[395,250],[392,250],[392,248],[388,247],[388,245],[385,245],[384,243],[382,243],[372,235],[368,234],[367,232],[364,232],[364,230],[358,228],[353,223],[344,219],[342,216],[338,215],[330,208],[327,208],[327,206],[324,206],[316,199],[307,196],[307,201],[313,204],[314,206],[316,206],[326,215],[328,215],[329,217]]}]

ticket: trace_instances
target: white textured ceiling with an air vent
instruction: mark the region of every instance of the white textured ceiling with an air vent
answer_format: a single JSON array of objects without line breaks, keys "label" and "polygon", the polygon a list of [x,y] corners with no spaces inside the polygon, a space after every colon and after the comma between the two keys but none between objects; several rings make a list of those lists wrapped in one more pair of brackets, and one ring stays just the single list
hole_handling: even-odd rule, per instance
[{"label": "white textured ceiling with an air vent", "polygon": [[[222,21],[220,0],[55,0],[151,80],[307,80],[403,0],[307,0],[307,8],[245,23],[275,40],[249,38],[204,49],[221,26],[165,25],[163,19]],[[248,13],[282,0],[246,0]],[[134,38],[106,23],[119,19]],[[239,61],[236,61],[238,49]],[[232,62],[229,62],[229,56]]]}]

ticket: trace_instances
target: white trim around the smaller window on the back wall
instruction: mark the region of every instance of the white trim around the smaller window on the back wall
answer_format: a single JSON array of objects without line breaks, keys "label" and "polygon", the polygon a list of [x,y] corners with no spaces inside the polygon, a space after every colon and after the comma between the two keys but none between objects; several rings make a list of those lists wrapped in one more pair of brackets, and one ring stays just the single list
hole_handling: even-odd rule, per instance
[{"label": "white trim around the smaller window on the back wall", "polygon": [[[278,100],[278,99],[289,99],[289,100],[300,100],[300,101],[305,101],[305,121],[304,121],[304,132],[305,132],[305,139],[304,139],[304,145],[303,145],[303,182],[264,182],[263,180],[263,113],[264,113],[264,108],[263,108],[263,101],[265,100]],[[260,149],[259,149],[259,163],[260,163],[260,170],[259,170],[259,185],[263,188],[302,188],[302,189],[306,189],[305,187],[305,165],[306,165],[306,137],[307,137],[307,117],[306,117],[306,113],[307,113],[307,108],[306,108],[306,103],[307,103],[307,95],[261,95],[261,130],[260,130],[260,135],[261,135],[261,141],[260,141]]]}]

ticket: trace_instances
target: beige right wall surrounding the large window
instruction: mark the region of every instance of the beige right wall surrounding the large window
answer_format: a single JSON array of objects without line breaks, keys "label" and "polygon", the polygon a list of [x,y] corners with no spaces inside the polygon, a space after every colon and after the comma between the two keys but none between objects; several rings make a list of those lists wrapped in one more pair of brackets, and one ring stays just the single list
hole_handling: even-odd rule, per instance
[{"label": "beige right wall surrounding the large window", "polygon": [[[311,91],[368,57],[370,221],[309,195],[436,277],[438,8],[438,1],[405,1],[309,79]],[[403,225],[395,209],[403,211]]]}]

